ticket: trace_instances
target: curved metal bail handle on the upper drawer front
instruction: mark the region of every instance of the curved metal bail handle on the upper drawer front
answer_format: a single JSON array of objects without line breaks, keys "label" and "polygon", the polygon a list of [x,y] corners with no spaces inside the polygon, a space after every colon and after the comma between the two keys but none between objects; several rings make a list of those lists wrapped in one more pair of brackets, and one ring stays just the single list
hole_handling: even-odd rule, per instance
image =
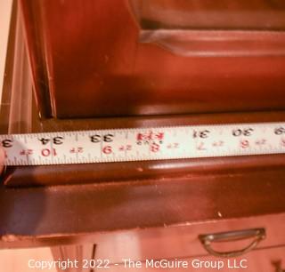
[{"label": "curved metal bail handle on the upper drawer front", "polygon": [[[199,235],[199,241],[203,244],[204,248],[210,254],[217,256],[217,257],[237,257],[246,252],[249,252],[256,248],[256,245],[263,239],[265,239],[265,228],[251,228],[245,230],[237,230],[237,231],[229,231],[229,232],[221,232],[215,234],[207,234],[207,235]],[[215,242],[231,242],[237,240],[243,240],[253,237],[254,240],[248,244],[247,247],[232,251],[232,252],[217,252],[211,246],[212,243]]]}]

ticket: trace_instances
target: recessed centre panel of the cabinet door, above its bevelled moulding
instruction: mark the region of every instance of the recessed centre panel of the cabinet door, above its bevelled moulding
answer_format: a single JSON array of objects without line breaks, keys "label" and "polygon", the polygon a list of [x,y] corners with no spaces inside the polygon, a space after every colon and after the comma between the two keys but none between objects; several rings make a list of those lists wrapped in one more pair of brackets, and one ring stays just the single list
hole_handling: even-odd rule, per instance
[{"label": "recessed centre panel of the cabinet door, above its bevelled moulding", "polygon": [[[129,0],[142,28],[285,29],[285,4],[267,0]],[[171,11],[171,12],[170,12]]]}]

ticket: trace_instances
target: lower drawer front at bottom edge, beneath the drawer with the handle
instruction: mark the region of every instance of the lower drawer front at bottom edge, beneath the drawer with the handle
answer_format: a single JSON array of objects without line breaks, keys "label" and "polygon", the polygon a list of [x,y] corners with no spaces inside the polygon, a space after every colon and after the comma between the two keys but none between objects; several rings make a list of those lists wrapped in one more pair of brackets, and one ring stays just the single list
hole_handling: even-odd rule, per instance
[{"label": "lower drawer front at bottom edge, beneath the drawer with the handle", "polygon": [[[182,263],[183,261],[183,263]],[[161,264],[161,267],[159,267]],[[215,257],[198,257],[182,259],[175,266],[171,260],[159,260],[157,262],[118,264],[111,266],[111,271],[246,271],[246,272],[284,272],[285,271],[285,247],[276,247],[265,250],[249,252],[240,258],[219,259]],[[183,268],[184,265],[184,268]],[[155,267],[156,266],[156,267]],[[167,268],[164,268],[166,266]],[[180,266],[180,268],[178,267]],[[130,268],[131,267],[131,268]],[[98,270],[94,270],[98,271]]]}]

